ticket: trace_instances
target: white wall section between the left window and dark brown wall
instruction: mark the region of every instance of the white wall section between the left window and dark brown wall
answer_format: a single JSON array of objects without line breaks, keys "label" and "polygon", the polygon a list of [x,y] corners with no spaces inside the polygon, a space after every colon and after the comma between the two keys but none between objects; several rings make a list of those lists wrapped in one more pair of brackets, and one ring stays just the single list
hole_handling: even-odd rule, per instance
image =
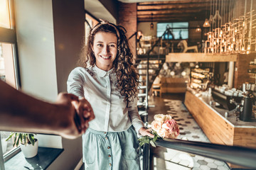
[{"label": "white wall section between the left window and dark brown wall", "polygon": [[50,0],[14,1],[22,90],[55,101],[58,95]]}]

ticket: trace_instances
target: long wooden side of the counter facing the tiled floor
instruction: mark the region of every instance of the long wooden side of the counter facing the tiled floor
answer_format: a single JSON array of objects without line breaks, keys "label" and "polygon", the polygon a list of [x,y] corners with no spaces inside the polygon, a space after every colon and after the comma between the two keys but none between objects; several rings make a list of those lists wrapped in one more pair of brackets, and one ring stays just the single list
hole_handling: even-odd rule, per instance
[{"label": "long wooden side of the counter facing the tiled floor", "polygon": [[233,145],[234,128],[203,101],[186,91],[185,105],[210,142]]}]

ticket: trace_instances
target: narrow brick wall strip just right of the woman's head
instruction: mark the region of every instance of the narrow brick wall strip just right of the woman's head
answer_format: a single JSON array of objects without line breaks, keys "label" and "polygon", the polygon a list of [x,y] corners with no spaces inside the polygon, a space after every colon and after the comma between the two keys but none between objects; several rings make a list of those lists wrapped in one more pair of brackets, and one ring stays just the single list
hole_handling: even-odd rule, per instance
[{"label": "narrow brick wall strip just right of the woman's head", "polygon": [[[127,38],[137,32],[137,4],[119,2],[118,25],[127,30]],[[132,54],[136,55],[136,36],[129,40]]]}]

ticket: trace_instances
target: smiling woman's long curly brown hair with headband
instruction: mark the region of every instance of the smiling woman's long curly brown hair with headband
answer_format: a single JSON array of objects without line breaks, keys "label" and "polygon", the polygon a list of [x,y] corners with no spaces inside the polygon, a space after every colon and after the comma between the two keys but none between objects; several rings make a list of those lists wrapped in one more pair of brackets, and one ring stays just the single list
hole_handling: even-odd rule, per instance
[{"label": "smiling woman's long curly brown hair with headband", "polygon": [[117,82],[114,84],[117,91],[124,97],[124,101],[134,101],[137,98],[137,87],[139,85],[139,74],[133,65],[133,55],[129,48],[126,37],[127,31],[122,26],[115,26],[113,23],[103,21],[90,30],[87,38],[87,45],[83,45],[80,55],[80,62],[83,67],[95,66],[96,58],[92,51],[95,34],[98,32],[114,33],[117,36],[117,57],[113,62],[114,72],[117,74]]}]

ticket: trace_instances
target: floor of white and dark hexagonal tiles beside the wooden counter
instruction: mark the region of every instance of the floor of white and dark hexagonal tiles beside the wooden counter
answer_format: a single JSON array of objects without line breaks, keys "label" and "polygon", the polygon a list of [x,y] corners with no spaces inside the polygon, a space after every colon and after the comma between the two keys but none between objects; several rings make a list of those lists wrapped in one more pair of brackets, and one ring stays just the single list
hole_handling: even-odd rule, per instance
[{"label": "floor of white and dark hexagonal tiles beside the wooden counter", "polygon": [[[155,114],[169,114],[177,121],[180,127],[181,133],[178,139],[209,142],[191,114],[186,110],[182,103],[183,99],[183,94],[165,94],[161,98],[157,96],[151,97],[149,106],[154,105],[154,107],[149,108],[148,111],[149,123],[154,120]],[[151,147],[150,167],[151,170],[230,169],[225,162],[164,147]]]}]

